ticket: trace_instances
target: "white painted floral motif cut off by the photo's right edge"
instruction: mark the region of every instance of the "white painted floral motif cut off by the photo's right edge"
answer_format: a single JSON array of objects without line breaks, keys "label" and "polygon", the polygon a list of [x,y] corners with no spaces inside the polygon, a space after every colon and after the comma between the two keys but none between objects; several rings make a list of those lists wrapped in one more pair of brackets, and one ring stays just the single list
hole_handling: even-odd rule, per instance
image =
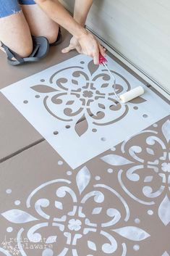
[{"label": "white painted floral motif cut off by the photo's right edge", "polygon": [[[143,144],[139,144],[140,136]],[[158,216],[164,226],[170,223],[170,120],[163,123],[161,133],[145,130],[124,141],[121,154],[101,159],[119,167],[119,183],[129,197],[149,206],[159,199]]]}]

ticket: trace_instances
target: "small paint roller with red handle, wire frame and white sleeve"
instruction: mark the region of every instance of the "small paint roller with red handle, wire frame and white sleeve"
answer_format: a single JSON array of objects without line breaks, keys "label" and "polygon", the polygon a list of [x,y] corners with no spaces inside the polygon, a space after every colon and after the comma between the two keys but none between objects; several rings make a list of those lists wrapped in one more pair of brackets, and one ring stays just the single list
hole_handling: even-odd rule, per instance
[{"label": "small paint roller with red handle, wire frame and white sleeve", "polygon": [[107,62],[107,59],[105,57],[103,57],[103,55],[100,54],[99,55],[99,64],[102,64],[104,67],[106,67],[106,70],[108,70],[109,74],[111,75],[111,78],[114,79],[114,87],[113,87],[114,94],[119,102],[127,103],[127,102],[131,101],[132,99],[135,99],[138,96],[144,94],[145,91],[144,91],[143,86],[137,86],[136,88],[133,88],[132,90],[127,91],[126,93],[121,94],[121,95],[116,94],[116,78],[111,73],[111,70],[109,70],[109,67],[107,67],[106,62]]}]

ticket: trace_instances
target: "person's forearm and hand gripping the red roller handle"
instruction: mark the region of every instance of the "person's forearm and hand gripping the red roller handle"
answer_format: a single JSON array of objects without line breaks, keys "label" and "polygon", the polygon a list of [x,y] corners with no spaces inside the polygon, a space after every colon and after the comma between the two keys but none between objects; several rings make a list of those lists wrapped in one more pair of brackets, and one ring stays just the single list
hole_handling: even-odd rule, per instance
[{"label": "person's forearm and hand gripping the red roller handle", "polygon": [[[84,2],[86,0],[83,0]],[[88,1],[88,0],[87,0]],[[82,25],[80,25],[57,0],[35,0],[44,12],[63,28],[72,34],[80,45],[80,53],[93,57],[94,63],[98,64],[99,48],[98,41]],[[79,1],[80,2],[80,1]],[[77,2],[78,3],[78,2]],[[80,3],[79,3],[80,4]],[[88,5],[87,5],[88,7]],[[89,7],[90,8],[90,7]],[[85,12],[83,12],[85,14]],[[87,15],[87,14],[86,14]],[[85,15],[83,15],[83,19]],[[79,17],[79,19],[82,19]],[[77,49],[78,51],[79,49]],[[102,54],[102,52],[101,52]]]}]

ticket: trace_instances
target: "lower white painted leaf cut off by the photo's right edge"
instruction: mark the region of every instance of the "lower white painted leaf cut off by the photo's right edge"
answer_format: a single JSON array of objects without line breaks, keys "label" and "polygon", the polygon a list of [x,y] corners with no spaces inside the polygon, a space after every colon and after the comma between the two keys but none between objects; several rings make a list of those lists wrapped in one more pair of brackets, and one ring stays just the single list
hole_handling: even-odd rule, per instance
[{"label": "lower white painted leaf cut off by the photo's right edge", "polygon": [[170,201],[167,194],[158,208],[158,216],[165,226],[170,223]]}]

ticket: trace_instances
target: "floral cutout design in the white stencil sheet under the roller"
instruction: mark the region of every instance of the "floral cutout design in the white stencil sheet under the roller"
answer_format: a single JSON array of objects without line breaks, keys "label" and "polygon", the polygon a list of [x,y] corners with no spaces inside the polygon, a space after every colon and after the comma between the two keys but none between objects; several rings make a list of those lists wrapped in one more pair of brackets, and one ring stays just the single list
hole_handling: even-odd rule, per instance
[{"label": "floral cutout design in the white stencil sheet under the roller", "polygon": [[[88,63],[88,73],[82,66],[66,67],[51,75],[50,86],[39,84],[31,86],[34,91],[47,94],[43,104],[55,118],[74,123],[75,131],[82,136],[93,125],[110,125],[121,120],[129,110],[127,104],[117,102],[114,95],[114,81],[107,70]],[[68,71],[71,75],[68,78]],[[101,73],[100,73],[101,72]],[[116,93],[122,94],[131,89],[129,82],[119,73],[112,71],[122,84],[116,84]],[[51,87],[53,86],[53,87]],[[138,97],[132,103],[140,104],[145,99]],[[85,129],[78,131],[77,124],[85,120]]]}]

